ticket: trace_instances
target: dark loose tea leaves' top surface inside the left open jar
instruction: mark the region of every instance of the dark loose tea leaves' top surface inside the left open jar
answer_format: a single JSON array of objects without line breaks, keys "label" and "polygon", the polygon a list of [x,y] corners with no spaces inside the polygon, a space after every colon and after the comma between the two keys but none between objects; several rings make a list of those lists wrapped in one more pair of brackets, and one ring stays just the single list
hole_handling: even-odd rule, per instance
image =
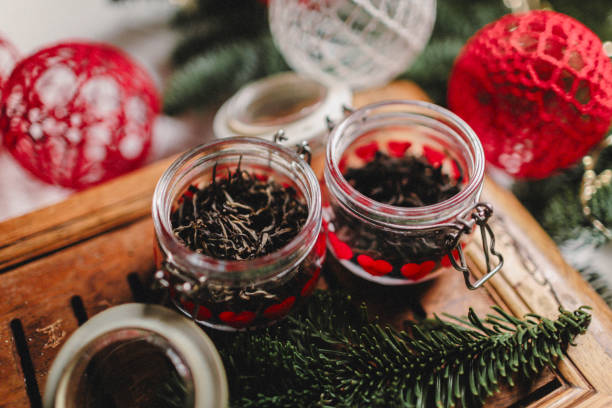
[{"label": "dark loose tea leaves' top surface inside the left open jar", "polygon": [[224,260],[248,260],[291,241],[308,217],[295,188],[240,168],[204,188],[190,186],[171,222],[174,234],[193,251]]}]

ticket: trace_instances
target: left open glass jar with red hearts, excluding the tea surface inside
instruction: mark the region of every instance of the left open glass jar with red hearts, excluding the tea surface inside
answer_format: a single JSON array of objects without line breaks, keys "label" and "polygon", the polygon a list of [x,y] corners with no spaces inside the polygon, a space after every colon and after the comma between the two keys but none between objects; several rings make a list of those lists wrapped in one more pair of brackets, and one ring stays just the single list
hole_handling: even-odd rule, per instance
[{"label": "left open glass jar with red hearts, excluding the tea surface inside", "polygon": [[[218,180],[238,165],[259,179],[293,187],[308,207],[303,227],[284,247],[252,260],[221,260],[191,250],[174,235],[171,212],[179,200],[192,199],[190,186],[202,188],[213,173]],[[282,319],[310,296],[325,257],[316,176],[297,153],[259,138],[222,139],[183,154],[157,184],[153,220],[156,278],[181,312],[216,329],[254,328]]]}]

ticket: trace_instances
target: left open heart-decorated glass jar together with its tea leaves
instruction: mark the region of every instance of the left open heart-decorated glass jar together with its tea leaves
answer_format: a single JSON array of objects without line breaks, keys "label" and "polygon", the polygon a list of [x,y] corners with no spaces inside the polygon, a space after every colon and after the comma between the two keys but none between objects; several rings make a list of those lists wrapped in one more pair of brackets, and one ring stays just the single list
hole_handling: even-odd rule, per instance
[{"label": "left open heart-decorated glass jar together with its tea leaves", "polygon": [[[227,183],[259,188],[254,204],[241,202],[236,189],[223,190]],[[211,192],[221,201],[211,205],[206,195]],[[268,214],[264,207],[270,206],[302,206],[303,222],[280,247],[243,256],[297,225],[295,209]],[[201,213],[203,208],[208,213]],[[181,217],[187,223],[177,227]],[[216,220],[222,217],[224,222]],[[302,157],[277,143],[233,137],[186,152],[156,187],[153,219],[155,277],[172,303],[201,325],[221,330],[270,325],[303,303],[319,279],[326,252],[319,183]],[[213,226],[206,230],[208,222]],[[283,226],[271,229],[273,224]],[[204,250],[211,246],[235,257],[213,256]]]}]

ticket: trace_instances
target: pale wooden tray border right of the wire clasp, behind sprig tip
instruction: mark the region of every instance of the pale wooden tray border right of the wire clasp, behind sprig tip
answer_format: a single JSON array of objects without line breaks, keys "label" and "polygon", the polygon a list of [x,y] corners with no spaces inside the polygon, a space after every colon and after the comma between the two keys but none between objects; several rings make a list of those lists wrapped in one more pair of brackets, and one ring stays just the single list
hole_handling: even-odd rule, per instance
[{"label": "pale wooden tray border right of the wire clasp, behind sprig tip", "polygon": [[[500,214],[493,228],[506,258],[492,284],[509,294],[508,305],[517,315],[535,312],[554,318],[560,306],[568,310],[592,307],[589,330],[578,338],[578,347],[568,349],[568,356],[591,386],[612,395],[612,310],[564,262],[551,238],[514,195],[487,180],[482,198]],[[480,252],[471,255],[482,268]]]}]

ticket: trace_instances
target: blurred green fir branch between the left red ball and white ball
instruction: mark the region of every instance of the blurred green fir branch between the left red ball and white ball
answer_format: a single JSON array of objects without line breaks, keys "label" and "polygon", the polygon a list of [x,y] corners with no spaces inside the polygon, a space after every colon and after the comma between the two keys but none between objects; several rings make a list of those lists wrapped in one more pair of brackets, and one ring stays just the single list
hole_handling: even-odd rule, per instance
[{"label": "blurred green fir branch between the left red ball and white ball", "polygon": [[195,0],[171,24],[183,36],[171,56],[167,114],[220,103],[250,81],[289,69],[272,42],[263,2]]}]

